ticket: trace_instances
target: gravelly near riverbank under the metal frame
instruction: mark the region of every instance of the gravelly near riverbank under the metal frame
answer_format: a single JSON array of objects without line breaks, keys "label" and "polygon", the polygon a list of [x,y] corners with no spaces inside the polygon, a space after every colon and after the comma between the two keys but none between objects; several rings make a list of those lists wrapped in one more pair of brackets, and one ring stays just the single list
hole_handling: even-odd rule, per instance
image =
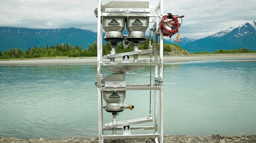
[{"label": "gravelly near riverbank under the metal frame", "polygon": [[[0,137],[0,143],[99,143],[97,137],[73,137],[69,139],[17,139],[15,137]],[[105,143],[154,143],[154,139],[105,140]],[[256,135],[237,136],[185,136],[165,135],[164,143],[256,143]]]}]

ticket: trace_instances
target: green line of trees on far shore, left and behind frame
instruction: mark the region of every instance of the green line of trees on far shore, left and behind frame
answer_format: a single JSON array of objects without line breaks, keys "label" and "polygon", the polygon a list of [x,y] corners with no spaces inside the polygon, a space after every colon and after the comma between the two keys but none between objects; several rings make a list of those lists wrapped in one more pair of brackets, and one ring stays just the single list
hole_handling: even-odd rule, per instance
[{"label": "green line of trees on far shore, left and behind frame", "polygon": [[[147,39],[140,45],[140,49],[148,49]],[[151,39],[153,43],[153,39]],[[0,59],[15,59],[15,58],[42,58],[42,57],[81,57],[81,56],[97,56],[97,43],[93,42],[91,45],[87,45],[87,49],[82,49],[81,45],[73,46],[70,44],[60,44],[56,46],[46,46],[46,47],[33,47],[28,48],[26,51],[22,49],[12,48],[6,51],[0,51]],[[109,54],[111,51],[111,44],[108,42],[102,46],[103,55]],[[123,48],[123,44],[119,43],[116,48],[116,53],[129,52],[132,51],[133,47],[131,45],[128,48]]]}]

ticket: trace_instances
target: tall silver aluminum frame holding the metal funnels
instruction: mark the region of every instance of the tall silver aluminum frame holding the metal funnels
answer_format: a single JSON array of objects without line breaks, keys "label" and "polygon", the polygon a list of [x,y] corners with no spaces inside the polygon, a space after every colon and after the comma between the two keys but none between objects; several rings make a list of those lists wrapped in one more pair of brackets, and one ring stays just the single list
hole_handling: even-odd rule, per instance
[{"label": "tall silver aluminum frame holding the metal funnels", "polygon": [[[163,33],[159,29],[160,19],[163,17],[163,0],[160,0],[155,8],[156,13],[148,14],[148,13],[102,13],[99,9],[102,8],[102,1],[98,1],[98,11],[97,11],[97,91],[98,91],[98,123],[99,123],[99,143],[104,143],[104,139],[123,139],[123,138],[155,138],[155,142],[158,142],[158,137],[160,138],[160,143],[163,143]],[[102,62],[102,17],[136,17],[136,16],[144,16],[144,17],[155,17],[154,20],[150,20],[149,22],[154,22],[156,27],[156,32],[154,32],[155,36],[155,57],[153,62]],[[160,53],[158,53],[158,36],[160,37]],[[100,44],[99,44],[100,43]],[[159,55],[158,55],[159,54]],[[158,62],[159,61],[159,62]],[[101,87],[101,79],[102,75],[102,67],[103,66],[111,66],[111,65],[153,65],[155,66],[154,70],[154,85],[126,85],[126,87]],[[159,68],[159,74],[158,74]],[[110,130],[103,127],[103,91],[106,90],[154,90],[154,126],[140,126],[133,127],[130,129],[138,129],[138,130],[154,130],[154,134],[140,134],[140,135],[104,135],[104,131]],[[160,98],[158,98],[158,92],[160,94]],[[160,104],[160,109],[158,109],[158,103]],[[158,112],[160,112],[160,117],[158,116]],[[160,121],[158,122],[158,119]],[[158,132],[158,123],[160,126],[160,133]],[[122,128],[117,127],[116,130],[122,130]]]}]

